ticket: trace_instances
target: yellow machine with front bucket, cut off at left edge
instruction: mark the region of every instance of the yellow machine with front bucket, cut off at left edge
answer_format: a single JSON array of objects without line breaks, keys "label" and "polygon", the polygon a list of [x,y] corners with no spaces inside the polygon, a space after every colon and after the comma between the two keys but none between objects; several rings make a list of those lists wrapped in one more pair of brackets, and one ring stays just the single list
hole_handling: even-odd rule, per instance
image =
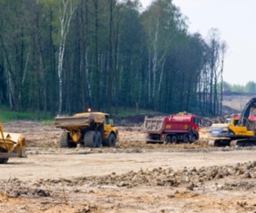
[{"label": "yellow machine with front bucket, cut off at left edge", "polygon": [[27,157],[25,136],[3,132],[3,125],[0,123],[0,163],[7,163],[10,157]]}]

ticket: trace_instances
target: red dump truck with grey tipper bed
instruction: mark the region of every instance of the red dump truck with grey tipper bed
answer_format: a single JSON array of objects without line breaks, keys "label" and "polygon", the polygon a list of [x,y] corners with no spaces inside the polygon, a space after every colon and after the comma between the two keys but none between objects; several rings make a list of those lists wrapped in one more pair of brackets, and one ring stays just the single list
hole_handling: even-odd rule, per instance
[{"label": "red dump truck with grey tipper bed", "polygon": [[199,118],[195,115],[170,115],[145,118],[146,142],[195,142],[199,139]]}]

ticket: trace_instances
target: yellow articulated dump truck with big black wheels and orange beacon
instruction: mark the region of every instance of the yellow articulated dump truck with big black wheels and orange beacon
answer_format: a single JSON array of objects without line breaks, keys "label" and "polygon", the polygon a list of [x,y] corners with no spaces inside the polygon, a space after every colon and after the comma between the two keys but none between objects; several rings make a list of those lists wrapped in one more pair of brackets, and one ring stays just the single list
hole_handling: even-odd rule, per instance
[{"label": "yellow articulated dump truck with big black wheels and orange beacon", "polygon": [[89,147],[116,146],[118,140],[118,130],[113,120],[103,112],[57,116],[55,126],[65,130],[59,138],[63,148],[73,148],[77,144]]}]

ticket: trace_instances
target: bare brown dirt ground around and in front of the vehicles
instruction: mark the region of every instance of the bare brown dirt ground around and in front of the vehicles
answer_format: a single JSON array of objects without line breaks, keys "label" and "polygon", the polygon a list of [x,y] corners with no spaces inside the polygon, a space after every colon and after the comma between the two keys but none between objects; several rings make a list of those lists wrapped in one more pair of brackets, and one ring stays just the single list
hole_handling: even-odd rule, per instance
[{"label": "bare brown dirt ground around and in front of the vehicles", "polygon": [[116,148],[59,148],[61,130],[11,122],[28,158],[0,165],[0,212],[256,212],[256,148],[146,144],[120,127]]}]

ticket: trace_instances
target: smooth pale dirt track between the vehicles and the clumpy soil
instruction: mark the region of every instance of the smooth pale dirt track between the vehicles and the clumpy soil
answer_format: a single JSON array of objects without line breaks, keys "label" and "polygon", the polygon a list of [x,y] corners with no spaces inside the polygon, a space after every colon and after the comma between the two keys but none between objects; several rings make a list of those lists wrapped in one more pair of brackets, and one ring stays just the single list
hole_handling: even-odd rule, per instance
[{"label": "smooth pale dirt track between the vehicles and the clumpy soil", "polygon": [[[79,154],[86,153],[86,154]],[[7,165],[0,165],[0,177],[17,177],[20,180],[58,179],[79,176],[102,176],[141,169],[152,170],[171,167],[210,167],[214,165],[235,165],[256,161],[256,151],[214,151],[214,152],[151,152],[151,153],[89,153],[86,149],[76,155],[29,155],[24,159],[9,159]]]}]

